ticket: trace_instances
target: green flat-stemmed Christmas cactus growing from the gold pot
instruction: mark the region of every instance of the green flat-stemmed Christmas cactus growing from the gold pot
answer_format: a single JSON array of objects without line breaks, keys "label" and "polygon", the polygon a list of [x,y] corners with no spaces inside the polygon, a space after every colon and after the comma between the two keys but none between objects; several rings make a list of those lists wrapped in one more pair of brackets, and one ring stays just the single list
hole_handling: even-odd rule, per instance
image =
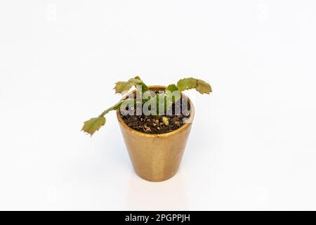
[{"label": "green flat-stemmed Christmas cactus growing from the gold pot", "polygon": [[[185,101],[180,101],[182,91],[196,89],[200,94],[209,94],[212,91],[211,85],[207,82],[190,77],[180,79],[177,84],[170,84],[166,89],[157,93],[150,90],[140,77],[134,77],[127,82],[115,83],[115,94],[124,95],[133,86],[136,88],[136,96],[133,93],[129,94],[123,100],[103,111],[98,117],[93,117],[84,122],[81,130],[92,136],[100,127],[105,125],[105,115],[112,110],[120,110],[121,115],[136,112],[136,115],[139,116],[146,115],[162,118],[164,124],[168,126],[169,120],[164,115],[172,114],[172,105],[181,103],[185,105]],[[180,109],[180,107],[178,108]],[[174,113],[178,115],[180,111]]]}]

